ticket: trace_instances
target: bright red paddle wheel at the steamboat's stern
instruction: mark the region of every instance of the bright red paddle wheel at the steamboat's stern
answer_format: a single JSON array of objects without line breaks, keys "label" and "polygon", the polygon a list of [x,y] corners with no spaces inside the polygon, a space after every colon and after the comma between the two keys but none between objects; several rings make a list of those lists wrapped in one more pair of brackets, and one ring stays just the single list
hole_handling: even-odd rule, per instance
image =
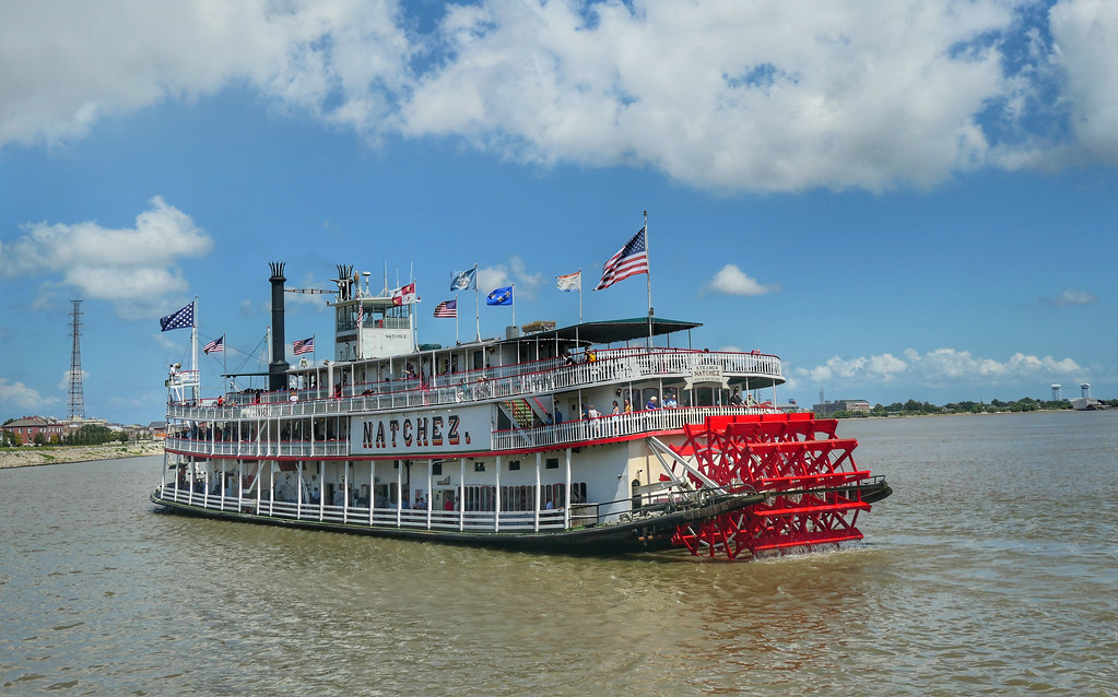
[{"label": "bright red paddle wheel at the steamboat's stern", "polygon": [[[672,542],[695,555],[737,558],[745,551],[758,556],[861,540],[854,524],[859,512],[870,509],[863,500],[869,487],[861,484],[871,475],[854,464],[858,441],[836,438],[836,426],[835,419],[809,413],[710,417],[685,426],[686,440],[672,446],[676,455],[730,493],[769,496],[681,526]],[[690,472],[685,476],[702,486]]]}]

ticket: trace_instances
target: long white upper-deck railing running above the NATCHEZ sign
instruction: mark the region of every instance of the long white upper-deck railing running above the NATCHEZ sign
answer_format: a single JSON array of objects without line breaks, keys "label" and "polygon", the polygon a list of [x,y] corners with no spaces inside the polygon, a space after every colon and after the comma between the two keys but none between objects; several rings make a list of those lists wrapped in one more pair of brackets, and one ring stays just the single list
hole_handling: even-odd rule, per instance
[{"label": "long white upper-deck railing running above the NATCHEZ sign", "polygon": [[[563,365],[557,359],[549,359],[481,371],[435,375],[427,384],[413,379],[347,386],[342,390],[341,397],[332,397],[331,392],[324,389],[267,393],[259,402],[256,401],[257,395],[249,398],[234,394],[229,395],[230,399],[241,403],[218,405],[215,400],[203,400],[201,404],[176,403],[169,407],[168,417],[199,421],[231,421],[398,411],[416,407],[512,399],[540,392],[643,379],[686,376],[697,367],[704,366],[713,367],[727,376],[759,376],[774,380],[781,376],[780,359],[760,353],[678,348],[609,348],[594,353],[596,360],[584,360],[572,365]],[[243,403],[249,400],[252,403]]]}]

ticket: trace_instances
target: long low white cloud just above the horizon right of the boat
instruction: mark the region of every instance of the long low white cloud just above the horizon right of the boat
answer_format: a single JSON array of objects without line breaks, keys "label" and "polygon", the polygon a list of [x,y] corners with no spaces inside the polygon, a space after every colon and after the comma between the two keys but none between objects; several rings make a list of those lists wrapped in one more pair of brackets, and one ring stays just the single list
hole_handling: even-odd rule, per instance
[{"label": "long low white cloud just above the horizon right of the boat", "polygon": [[884,384],[903,376],[910,384],[942,385],[977,382],[1014,384],[1040,376],[1074,376],[1084,372],[1072,359],[1039,357],[1014,353],[1005,361],[974,356],[969,351],[936,348],[925,354],[906,348],[903,359],[884,353],[874,356],[842,359],[834,356],[823,365],[800,367],[795,374],[812,384]]}]

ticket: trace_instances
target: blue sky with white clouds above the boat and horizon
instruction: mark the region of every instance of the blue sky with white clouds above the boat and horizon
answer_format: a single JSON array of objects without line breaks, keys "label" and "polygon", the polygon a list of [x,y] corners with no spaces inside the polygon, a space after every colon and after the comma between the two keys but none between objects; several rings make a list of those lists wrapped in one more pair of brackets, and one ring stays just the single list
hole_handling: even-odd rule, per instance
[{"label": "blue sky with white clouds above the boat and horizon", "polygon": [[414,278],[444,345],[475,264],[519,324],[577,322],[579,269],[643,316],[590,288],[644,211],[656,316],[781,356],[780,401],[1118,397],[1115,46],[1105,0],[0,3],[0,421],[67,416],[74,299],[87,418],[163,418],[196,296],[216,394],[269,261]]}]

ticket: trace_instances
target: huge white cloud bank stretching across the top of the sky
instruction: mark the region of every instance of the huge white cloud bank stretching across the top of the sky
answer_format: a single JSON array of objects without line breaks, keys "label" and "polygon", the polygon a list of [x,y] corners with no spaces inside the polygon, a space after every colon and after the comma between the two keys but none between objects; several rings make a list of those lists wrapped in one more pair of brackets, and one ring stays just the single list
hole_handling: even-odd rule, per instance
[{"label": "huge white cloud bank stretching across the top of the sky", "polygon": [[[449,136],[727,191],[1118,161],[1118,3],[1032,6],[8,2],[0,65],[18,69],[0,74],[0,146],[243,84],[373,143]],[[408,13],[432,8],[434,22]]]}]

